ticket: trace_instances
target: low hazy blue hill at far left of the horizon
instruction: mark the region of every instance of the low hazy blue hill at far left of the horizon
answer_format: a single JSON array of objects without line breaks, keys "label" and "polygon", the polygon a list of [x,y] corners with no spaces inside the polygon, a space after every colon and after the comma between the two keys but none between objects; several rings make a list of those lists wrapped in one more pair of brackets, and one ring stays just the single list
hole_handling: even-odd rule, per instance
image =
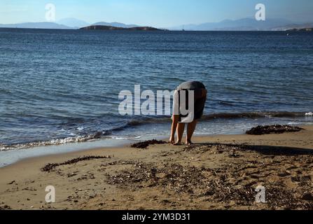
[{"label": "low hazy blue hill at far left of the horizon", "polygon": [[25,22],[18,24],[0,24],[0,28],[29,28],[29,29],[74,29],[55,22]]}]

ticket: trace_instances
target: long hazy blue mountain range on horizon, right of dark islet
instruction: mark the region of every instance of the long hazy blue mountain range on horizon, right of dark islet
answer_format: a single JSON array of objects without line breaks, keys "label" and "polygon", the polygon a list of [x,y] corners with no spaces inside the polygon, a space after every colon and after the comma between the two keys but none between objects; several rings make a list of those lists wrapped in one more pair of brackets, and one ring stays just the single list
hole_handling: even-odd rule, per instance
[{"label": "long hazy blue mountain range on horizon, right of dark islet", "polygon": [[[174,30],[197,30],[197,31],[270,31],[295,24],[284,19],[267,19],[265,21],[257,21],[254,18],[244,18],[241,20],[223,20],[221,22],[207,22],[200,25],[181,25],[178,27],[170,27]],[[297,25],[297,24],[295,24]]]}]

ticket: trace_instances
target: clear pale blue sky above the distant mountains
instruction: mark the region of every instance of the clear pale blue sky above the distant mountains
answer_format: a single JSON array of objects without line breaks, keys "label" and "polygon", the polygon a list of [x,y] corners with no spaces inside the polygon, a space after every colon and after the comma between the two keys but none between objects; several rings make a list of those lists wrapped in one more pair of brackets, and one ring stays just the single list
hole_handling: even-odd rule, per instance
[{"label": "clear pale blue sky above the distant mountains", "polygon": [[45,6],[53,3],[56,19],[171,27],[252,17],[257,3],[267,18],[313,22],[312,0],[1,0],[0,23],[43,22]]}]

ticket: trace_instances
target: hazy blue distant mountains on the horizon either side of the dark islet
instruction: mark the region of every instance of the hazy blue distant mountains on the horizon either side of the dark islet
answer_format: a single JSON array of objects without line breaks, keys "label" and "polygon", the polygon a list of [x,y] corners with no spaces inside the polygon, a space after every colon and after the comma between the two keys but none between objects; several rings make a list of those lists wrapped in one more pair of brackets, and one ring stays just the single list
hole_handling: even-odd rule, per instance
[{"label": "hazy blue distant mountains on the horizon either side of the dark islet", "polygon": [[[96,22],[90,24],[76,18],[66,18],[57,22],[25,22],[19,24],[1,25],[0,27],[11,28],[32,28],[32,29],[79,29],[89,26],[106,26],[132,28],[141,27],[139,25],[127,25],[120,22]],[[176,27],[167,27],[169,30],[186,31],[283,31],[288,29],[304,29],[313,27],[311,23],[298,23],[284,19],[267,19],[265,21],[256,21],[254,18],[244,18],[241,20],[223,20],[221,22],[207,22],[200,25],[181,25]]]}]

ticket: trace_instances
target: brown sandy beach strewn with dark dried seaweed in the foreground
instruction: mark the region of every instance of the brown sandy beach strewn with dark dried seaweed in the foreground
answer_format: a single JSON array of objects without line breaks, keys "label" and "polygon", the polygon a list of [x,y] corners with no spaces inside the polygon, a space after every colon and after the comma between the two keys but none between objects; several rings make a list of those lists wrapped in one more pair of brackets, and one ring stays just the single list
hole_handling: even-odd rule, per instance
[{"label": "brown sandy beach strewn with dark dried seaweed in the foreground", "polygon": [[313,126],[303,128],[22,160],[0,169],[0,209],[313,209]]}]

